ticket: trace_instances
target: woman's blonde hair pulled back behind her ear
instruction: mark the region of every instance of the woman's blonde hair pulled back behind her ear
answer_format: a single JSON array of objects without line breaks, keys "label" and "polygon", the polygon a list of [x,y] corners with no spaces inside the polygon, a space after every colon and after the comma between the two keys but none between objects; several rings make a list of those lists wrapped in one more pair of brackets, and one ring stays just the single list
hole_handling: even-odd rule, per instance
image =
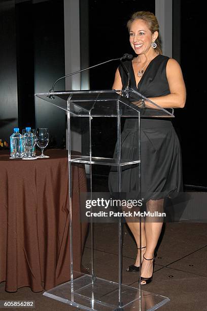
[{"label": "woman's blonde hair pulled back behind her ear", "polygon": [[154,32],[158,32],[158,37],[155,40],[157,44],[157,47],[155,48],[155,50],[158,54],[162,54],[161,41],[159,37],[159,24],[158,24],[156,16],[153,13],[147,12],[147,11],[140,11],[140,12],[133,13],[131,15],[131,18],[127,22],[128,31],[130,31],[131,23],[136,19],[144,20],[147,23],[148,28],[150,29],[152,34],[154,34]]}]

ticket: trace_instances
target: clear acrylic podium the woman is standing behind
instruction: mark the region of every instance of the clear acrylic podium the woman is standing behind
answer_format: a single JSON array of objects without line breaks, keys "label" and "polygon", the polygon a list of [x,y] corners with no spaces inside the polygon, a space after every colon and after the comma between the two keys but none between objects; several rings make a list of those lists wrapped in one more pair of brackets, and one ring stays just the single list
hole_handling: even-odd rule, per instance
[{"label": "clear acrylic podium the woman is standing behind", "polygon": [[[73,198],[72,198],[72,165],[85,165],[88,176],[88,193],[94,192],[93,167],[115,168],[117,172],[118,194],[122,192],[122,169],[130,165],[136,165],[141,176],[142,159],[140,157],[140,136],[137,137],[138,158],[132,154],[130,159],[122,157],[122,135],[126,118],[135,118],[139,124],[140,119],[148,117],[174,117],[173,111],[165,110],[150,101],[150,105],[143,107],[141,100],[147,100],[133,89],[123,90],[97,90],[97,91],[64,91],[39,93],[36,97],[63,109],[67,113],[67,147],[68,147],[68,171],[69,171],[69,198],[70,198],[70,253],[71,253],[71,281],[59,285],[44,293],[45,296],[61,302],[76,306],[84,310],[155,310],[165,304],[167,297],[152,294],[145,291],[140,285],[140,277],[137,274],[137,287],[122,284],[122,221],[121,216],[117,220],[118,256],[117,268],[118,282],[103,279],[96,276],[94,265],[93,247],[93,217],[90,217],[90,274],[76,271],[73,260]],[[137,104],[137,105],[136,105]],[[140,107],[138,106],[140,105]],[[100,148],[99,153],[94,152],[95,134],[93,121],[95,118],[105,118],[106,128],[109,118],[113,118],[115,130],[116,152],[106,154],[105,148]],[[96,119],[97,120],[97,119]],[[97,129],[97,127],[96,127]],[[140,131],[139,131],[140,133]],[[105,142],[107,143],[107,142]],[[72,152],[73,150],[73,152]],[[140,186],[139,186],[140,189]],[[97,187],[95,187],[97,192]],[[141,190],[140,190],[141,191]],[[94,209],[94,208],[93,208]],[[104,221],[103,221],[104,222]],[[142,247],[142,245],[141,245]],[[131,282],[133,283],[133,282]],[[60,307],[61,308],[61,307]]]}]

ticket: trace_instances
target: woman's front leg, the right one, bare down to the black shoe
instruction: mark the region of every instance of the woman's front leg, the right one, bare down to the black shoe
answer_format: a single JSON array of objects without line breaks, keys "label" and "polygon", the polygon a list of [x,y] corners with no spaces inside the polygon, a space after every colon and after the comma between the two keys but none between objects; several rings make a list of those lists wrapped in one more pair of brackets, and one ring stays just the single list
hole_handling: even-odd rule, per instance
[{"label": "woman's front leg, the right one, bare down to the black shoe", "polygon": [[[149,200],[147,202],[147,211],[150,212],[163,212],[164,199]],[[151,259],[154,257],[155,247],[157,245],[163,224],[163,217],[147,216],[145,222],[145,234],[146,234],[146,252],[145,258]],[[143,260],[141,276],[151,277],[153,273],[153,260]],[[144,282],[143,282],[144,283]]]}]

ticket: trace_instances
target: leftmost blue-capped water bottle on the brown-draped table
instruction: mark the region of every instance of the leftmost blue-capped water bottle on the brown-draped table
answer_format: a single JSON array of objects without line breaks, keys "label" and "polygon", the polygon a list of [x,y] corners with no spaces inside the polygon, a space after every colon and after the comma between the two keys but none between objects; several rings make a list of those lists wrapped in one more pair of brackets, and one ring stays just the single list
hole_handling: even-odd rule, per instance
[{"label": "leftmost blue-capped water bottle on the brown-draped table", "polygon": [[10,159],[22,158],[22,135],[19,133],[19,128],[14,128],[14,133],[10,136]]}]

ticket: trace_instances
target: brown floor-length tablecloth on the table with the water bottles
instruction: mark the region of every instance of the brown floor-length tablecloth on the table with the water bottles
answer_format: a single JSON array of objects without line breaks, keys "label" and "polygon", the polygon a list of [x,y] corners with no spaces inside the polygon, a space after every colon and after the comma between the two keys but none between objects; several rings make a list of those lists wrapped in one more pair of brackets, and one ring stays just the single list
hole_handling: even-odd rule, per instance
[{"label": "brown floor-length tablecloth on the table with the water bottles", "polygon": [[[6,154],[4,154],[6,153]],[[47,159],[9,159],[0,152],[0,282],[5,290],[48,290],[70,280],[66,150]],[[74,269],[81,270],[87,224],[80,222],[85,169],[73,165]]]}]

